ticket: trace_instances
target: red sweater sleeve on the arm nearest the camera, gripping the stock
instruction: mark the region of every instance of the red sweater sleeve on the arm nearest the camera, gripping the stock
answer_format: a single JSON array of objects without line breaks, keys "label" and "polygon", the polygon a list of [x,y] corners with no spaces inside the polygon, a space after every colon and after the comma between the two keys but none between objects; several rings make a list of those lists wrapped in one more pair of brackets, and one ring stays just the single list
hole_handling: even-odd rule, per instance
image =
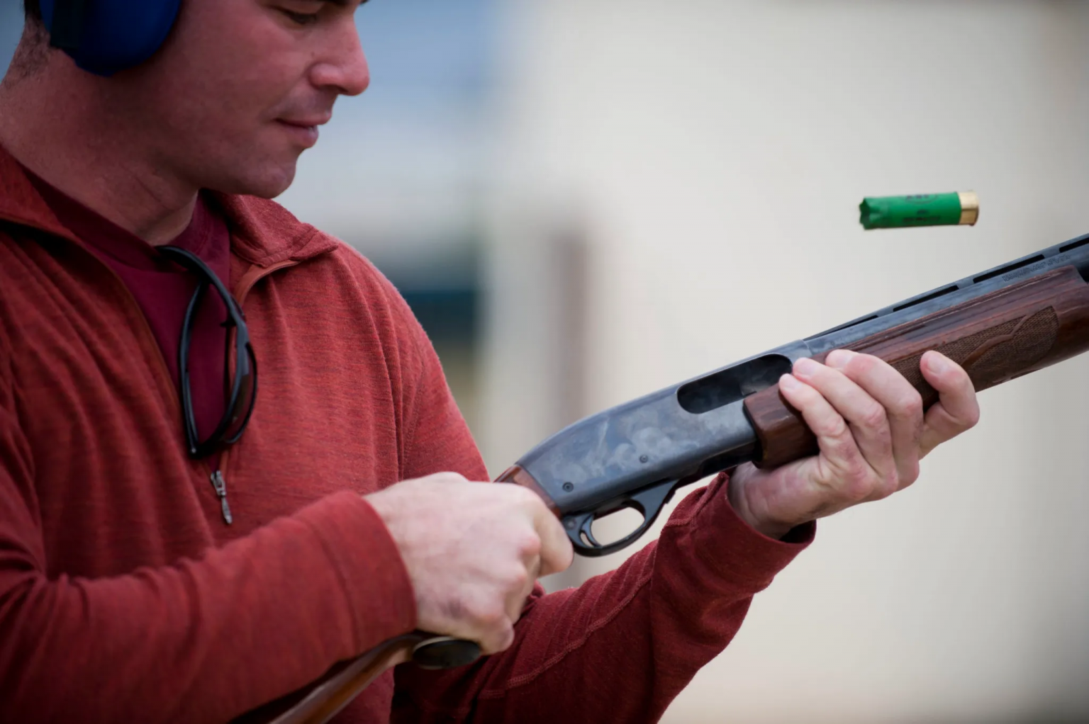
[{"label": "red sweater sleeve on the arm nearest the camera, gripping the stock", "polygon": [[15,395],[0,375],[0,721],[224,722],[415,626],[396,548],[354,493],[200,560],[50,577]]}]

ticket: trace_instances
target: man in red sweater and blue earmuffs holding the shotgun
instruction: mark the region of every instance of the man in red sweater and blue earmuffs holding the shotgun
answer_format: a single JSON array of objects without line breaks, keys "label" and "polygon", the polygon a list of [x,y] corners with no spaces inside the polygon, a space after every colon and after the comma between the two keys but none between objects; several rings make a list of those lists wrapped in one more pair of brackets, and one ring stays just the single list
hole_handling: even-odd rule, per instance
[{"label": "man in red sweater and blue earmuffs holding the shotgun", "polygon": [[925,416],[876,358],[799,361],[781,386],[819,456],[720,476],[617,570],[543,596],[570,543],[531,493],[470,482],[403,300],[265,200],[367,87],[358,4],[184,0],[103,77],[27,2],[0,84],[2,721],[223,722],[415,627],[491,655],[387,672],[340,721],[653,721],[815,518],[977,420],[935,353]]}]

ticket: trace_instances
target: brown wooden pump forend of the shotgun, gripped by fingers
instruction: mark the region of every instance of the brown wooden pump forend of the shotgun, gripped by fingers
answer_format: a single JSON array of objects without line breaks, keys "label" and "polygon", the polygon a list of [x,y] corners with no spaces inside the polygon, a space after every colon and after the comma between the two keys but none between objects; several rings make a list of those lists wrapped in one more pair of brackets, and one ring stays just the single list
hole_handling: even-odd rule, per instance
[{"label": "brown wooden pump forend of the shotgun, gripped by fingers", "polygon": [[[919,391],[923,407],[930,407],[938,393],[919,371],[929,349],[964,367],[976,390],[1089,349],[1089,285],[1077,269],[1062,267],[844,348],[891,364]],[[823,361],[825,356],[813,359]],[[758,467],[779,467],[817,453],[817,439],[779,385],[746,397],[745,412],[760,440]]]}]

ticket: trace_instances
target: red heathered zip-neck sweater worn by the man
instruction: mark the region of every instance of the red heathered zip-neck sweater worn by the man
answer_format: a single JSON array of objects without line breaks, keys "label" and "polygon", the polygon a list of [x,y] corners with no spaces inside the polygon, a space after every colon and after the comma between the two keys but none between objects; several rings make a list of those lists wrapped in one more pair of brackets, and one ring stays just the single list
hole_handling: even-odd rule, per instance
[{"label": "red heathered zip-neck sweater worn by the man", "polygon": [[[0,149],[0,721],[224,722],[305,685],[415,627],[363,495],[486,476],[384,278],[274,203],[210,198],[260,365],[221,464],[233,526],[185,454],[139,307]],[[338,721],[657,719],[812,535],[760,536],[725,484],[686,499],[617,570],[538,590],[509,651],[400,666]]]}]

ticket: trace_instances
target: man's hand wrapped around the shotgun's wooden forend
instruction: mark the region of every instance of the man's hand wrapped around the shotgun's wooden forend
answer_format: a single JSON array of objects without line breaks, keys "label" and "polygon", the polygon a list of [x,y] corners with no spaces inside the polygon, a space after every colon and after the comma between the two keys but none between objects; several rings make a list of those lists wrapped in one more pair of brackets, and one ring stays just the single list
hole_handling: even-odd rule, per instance
[{"label": "man's hand wrapped around the shotgun's wooden forend", "polygon": [[782,538],[794,526],[915,482],[920,458],[979,420],[964,369],[928,352],[921,370],[940,395],[926,416],[919,393],[877,357],[836,349],[824,365],[799,359],[779,388],[817,435],[820,454],[774,470],[738,467],[730,484],[734,510],[766,536]]}]

